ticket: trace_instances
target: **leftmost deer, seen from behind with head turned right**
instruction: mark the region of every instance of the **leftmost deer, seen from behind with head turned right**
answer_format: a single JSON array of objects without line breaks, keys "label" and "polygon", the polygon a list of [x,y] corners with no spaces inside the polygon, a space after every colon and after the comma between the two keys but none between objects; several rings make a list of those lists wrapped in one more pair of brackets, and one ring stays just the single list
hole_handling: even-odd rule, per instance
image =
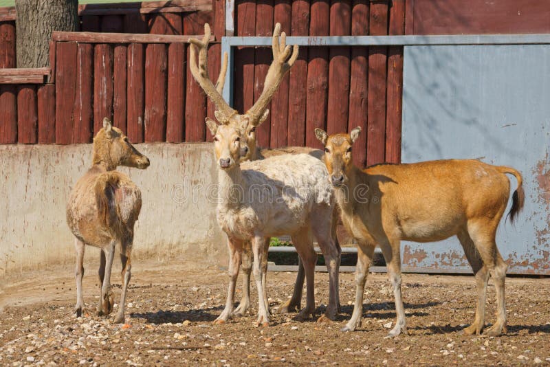
[{"label": "leftmost deer, seen from behind with head turned right", "polygon": [[92,166],[74,186],[67,203],[67,224],[76,237],[76,307],[77,317],[83,314],[85,245],[99,247],[101,260],[99,280],[101,297],[98,315],[113,311],[111,267],[116,247],[122,262],[122,294],[120,308],[113,322],[124,322],[126,290],[131,277],[131,251],[133,227],[142,207],[142,194],[126,175],[115,171],[117,166],[144,169],[149,166],[147,157],[138,152],[128,137],[103,119],[103,128],[94,137]]}]

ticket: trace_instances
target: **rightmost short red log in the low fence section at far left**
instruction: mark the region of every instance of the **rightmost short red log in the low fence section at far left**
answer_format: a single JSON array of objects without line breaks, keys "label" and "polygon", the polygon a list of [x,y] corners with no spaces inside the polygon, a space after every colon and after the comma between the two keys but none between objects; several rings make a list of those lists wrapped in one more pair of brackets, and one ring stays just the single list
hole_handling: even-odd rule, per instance
[{"label": "rightmost short red log in the low fence section at far left", "polygon": [[39,144],[54,144],[56,142],[56,86],[45,84],[39,87]]}]

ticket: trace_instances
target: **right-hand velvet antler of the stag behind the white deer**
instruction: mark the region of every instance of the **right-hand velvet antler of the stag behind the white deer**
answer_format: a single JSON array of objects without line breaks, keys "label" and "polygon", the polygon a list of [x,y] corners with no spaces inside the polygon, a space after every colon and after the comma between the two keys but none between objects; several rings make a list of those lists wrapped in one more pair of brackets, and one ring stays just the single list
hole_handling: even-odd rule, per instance
[{"label": "right-hand velvet antler of the stag behind the white deer", "polygon": [[[279,43],[279,35],[281,35],[281,43]],[[258,125],[265,120],[264,115],[267,117],[267,113],[264,114],[267,104],[270,103],[274,93],[277,91],[281,80],[283,80],[283,76],[285,76],[286,72],[294,65],[296,58],[298,58],[298,45],[290,47],[286,43],[287,35],[285,32],[281,34],[281,23],[277,23],[273,31],[273,62],[267,71],[267,76],[265,76],[260,98],[247,111],[247,115],[250,116],[250,122],[254,125]],[[290,54],[291,49],[292,55]]]}]

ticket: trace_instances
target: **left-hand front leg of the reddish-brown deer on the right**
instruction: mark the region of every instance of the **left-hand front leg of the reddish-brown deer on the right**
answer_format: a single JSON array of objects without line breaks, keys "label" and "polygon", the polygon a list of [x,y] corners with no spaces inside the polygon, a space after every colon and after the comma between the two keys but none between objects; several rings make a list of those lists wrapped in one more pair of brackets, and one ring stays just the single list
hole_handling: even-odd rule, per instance
[{"label": "left-hand front leg of the reddish-brown deer on the right", "polygon": [[357,265],[355,266],[355,306],[349,322],[342,331],[354,331],[361,324],[363,315],[363,295],[366,276],[373,261],[375,246],[359,242],[357,246]]}]

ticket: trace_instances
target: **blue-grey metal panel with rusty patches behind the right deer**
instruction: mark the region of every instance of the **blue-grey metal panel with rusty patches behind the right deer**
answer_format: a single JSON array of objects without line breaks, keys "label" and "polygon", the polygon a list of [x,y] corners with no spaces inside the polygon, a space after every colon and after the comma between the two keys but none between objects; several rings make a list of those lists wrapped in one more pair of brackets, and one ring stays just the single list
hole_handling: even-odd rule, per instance
[{"label": "blue-grey metal panel with rusty patches behind the right deer", "polygon": [[[525,208],[500,222],[498,249],[509,273],[550,274],[550,45],[406,46],[403,93],[402,161],[520,170]],[[401,251],[404,267],[469,269],[456,238]]]}]

